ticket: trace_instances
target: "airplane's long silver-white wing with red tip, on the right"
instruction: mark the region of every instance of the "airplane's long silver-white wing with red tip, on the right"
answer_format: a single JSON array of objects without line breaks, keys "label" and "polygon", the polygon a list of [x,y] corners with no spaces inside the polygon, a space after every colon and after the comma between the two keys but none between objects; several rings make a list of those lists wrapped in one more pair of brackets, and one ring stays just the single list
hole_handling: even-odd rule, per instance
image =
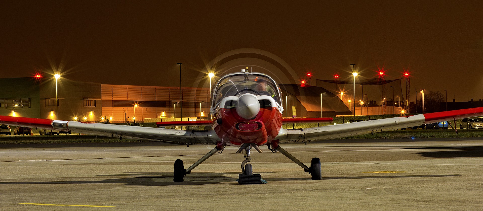
[{"label": "airplane's long silver-white wing with red tip, on the right", "polygon": [[478,116],[483,116],[483,107],[418,114],[407,117],[375,119],[298,130],[282,129],[277,138],[280,140],[280,143],[319,141]]}]

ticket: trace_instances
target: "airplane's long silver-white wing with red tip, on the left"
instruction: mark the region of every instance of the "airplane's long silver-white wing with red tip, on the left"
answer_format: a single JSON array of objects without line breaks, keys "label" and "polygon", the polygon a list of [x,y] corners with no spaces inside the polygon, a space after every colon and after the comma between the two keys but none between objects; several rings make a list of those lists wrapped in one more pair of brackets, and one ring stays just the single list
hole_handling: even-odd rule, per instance
[{"label": "airplane's long silver-white wing with red tip, on the left", "polygon": [[216,141],[219,141],[218,136],[213,131],[188,132],[164,128],[148,128],[126,125],[84,123],[78,121],[62,121],[7,116],[0,116],[0,123],[13,126],[69,131],[74,133],[149,140],[183,145],[205,143],[215,144]]}]

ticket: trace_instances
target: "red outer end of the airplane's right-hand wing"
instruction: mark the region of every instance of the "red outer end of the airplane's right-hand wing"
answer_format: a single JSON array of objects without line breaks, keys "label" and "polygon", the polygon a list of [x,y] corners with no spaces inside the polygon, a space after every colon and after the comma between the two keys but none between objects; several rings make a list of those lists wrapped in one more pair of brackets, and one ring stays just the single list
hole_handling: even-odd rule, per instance
[{"label": "red outer end of the airplane's right-hand wing", "polygon": [[469,117],[483,116],[483,107],[467,108],[454,111],[442,111],[436,113],[423,114],[425,117],[425,124],[440,121],[449,121],[455,119],[463,119]]}]

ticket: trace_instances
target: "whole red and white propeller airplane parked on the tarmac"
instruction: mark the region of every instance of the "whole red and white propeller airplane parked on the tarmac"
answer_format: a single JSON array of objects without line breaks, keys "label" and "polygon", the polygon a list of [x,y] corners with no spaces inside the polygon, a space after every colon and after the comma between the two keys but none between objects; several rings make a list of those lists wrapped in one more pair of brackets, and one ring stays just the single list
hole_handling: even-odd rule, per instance
[{"label": "whole red and white propeller airplane parked on the tarmac", "polygon": [[389,131],[423,124],[483,116],[483,107],[419,114],[406,117],[375,119],[347,124],[287,130],[284,123],[331,122],[332,118],[283,119],[282,95],[275,80],[263,73],[241,72],[227,74],[215,84],[211,96],[210,113],[213,121],[157,122],[158,127],[207,125],[210,130],[184,131],[166,128],[147,128],[126,125],[87,123],[51,119],[0,116],[1,124],[85,133],[109,137],[150,140],[181,145],[213,144],[215,147],[190,167],[183,160],[174,161],[174,182],[183,182],[186,174],[226,146],[239,147],[245,160],[241,163],[240,184],[260,184],[260,174],[253,173],[250,162],[252,148],[262,152],[266,145],[272,152],[280,152],[297,163],[313,180],[322,179],[319,158],[312,158],[310,167],[288,153],[281,144],[307,143],[359,134]]}]

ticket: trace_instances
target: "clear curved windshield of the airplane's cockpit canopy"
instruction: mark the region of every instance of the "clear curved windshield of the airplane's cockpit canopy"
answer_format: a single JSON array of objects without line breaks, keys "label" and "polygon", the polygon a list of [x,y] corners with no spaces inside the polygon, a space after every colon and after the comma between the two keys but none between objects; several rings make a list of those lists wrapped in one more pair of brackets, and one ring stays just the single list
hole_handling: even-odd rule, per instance
[{"label": "clear curved windshield of the airplane's cockpit canopy", "polygon": [[273,97],[279,105],[282,104],[277,86],[272,79],[260,75],[242,74],[224,78],[218,83],[213,105],[218,104],[224,97],[237,96],[244,93],[268,95]]}]

